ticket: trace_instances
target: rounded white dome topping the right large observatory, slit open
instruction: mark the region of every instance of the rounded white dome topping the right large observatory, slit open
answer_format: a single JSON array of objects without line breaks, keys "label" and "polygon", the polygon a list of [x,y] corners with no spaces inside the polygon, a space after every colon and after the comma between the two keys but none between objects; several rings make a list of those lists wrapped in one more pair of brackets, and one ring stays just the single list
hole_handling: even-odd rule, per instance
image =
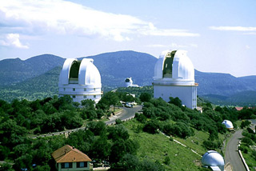
[{"label": "rounded white dome topping the right large observatory, slit open", "polygon": [[165,50],[154,66],[154,80],[194,84],[194,66],[186,50]]}]

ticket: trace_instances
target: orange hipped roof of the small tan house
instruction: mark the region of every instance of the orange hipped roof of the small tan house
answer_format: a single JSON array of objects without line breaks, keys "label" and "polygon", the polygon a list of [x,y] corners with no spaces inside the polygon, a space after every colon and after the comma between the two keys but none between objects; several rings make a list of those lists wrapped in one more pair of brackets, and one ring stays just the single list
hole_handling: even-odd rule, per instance
[{"label": "orange hipped roof of the small tan house", "polygon": [[70,145],[62,146],[51,155],[57,163],[91,161],[85,153]]}]

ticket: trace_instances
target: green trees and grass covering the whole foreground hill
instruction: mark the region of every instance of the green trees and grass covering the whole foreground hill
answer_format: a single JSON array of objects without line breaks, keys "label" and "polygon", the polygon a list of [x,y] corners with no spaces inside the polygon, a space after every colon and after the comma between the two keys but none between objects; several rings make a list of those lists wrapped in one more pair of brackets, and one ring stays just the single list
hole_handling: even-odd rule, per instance
[{"label": "green trees and grass covering the whole foreground hill", "polygon": [[[91,100],[82,101],[78,107],[69,96],[0,101],[0,160],[6,161],[5,168],[15,170],[54,170],[51,153],[69,144],[95,161],[110,162],[111,170],[181,170],[181,167],[201,170],[201,157],[190,149],[200,155],[207,149],[221,153],[226,136],[222,121],[227,119],[234,123],[256,116],[255,109],[245,108],[239,112],[227,107],[213,109],[210,103],[204,103],[203,113],[199,113],[182,106],[178,98],[170,98],[166,103],[162,98],[150,98],[149,94],[144,92],[140,98],[134,98],[126,92],[108,92],[96,108]],[[143,112],[136,113],[131,121],[117,120],[117,125],[112,126],[95,121],[110,116],[114,109],[110,106],[121,105],[120,100],[144,101]],[[71,133],[67,138],[61,135],[31,139],[33,133],[74,129],[85,123],[86,130]],[[246,128],[248,124],[242,121],[241,125]],[[244,136],[241,148],[251,157],[255,134],[246,129]]]}]

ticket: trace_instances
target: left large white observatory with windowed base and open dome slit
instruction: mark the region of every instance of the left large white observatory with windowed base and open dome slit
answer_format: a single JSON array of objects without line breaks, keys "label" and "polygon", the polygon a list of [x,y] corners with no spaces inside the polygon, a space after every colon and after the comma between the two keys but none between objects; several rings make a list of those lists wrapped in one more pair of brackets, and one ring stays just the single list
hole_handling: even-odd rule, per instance
[{"label": "left large white observatory with windowed base and open dome slit", "polygon": [[93,62],[90,58],[83,58],[82,61],[75,58],[66,59],[59,76],[59,95],[70,95],[73,101],[79,103],[86,99],[98,103],[102,97],[102,81]]}]

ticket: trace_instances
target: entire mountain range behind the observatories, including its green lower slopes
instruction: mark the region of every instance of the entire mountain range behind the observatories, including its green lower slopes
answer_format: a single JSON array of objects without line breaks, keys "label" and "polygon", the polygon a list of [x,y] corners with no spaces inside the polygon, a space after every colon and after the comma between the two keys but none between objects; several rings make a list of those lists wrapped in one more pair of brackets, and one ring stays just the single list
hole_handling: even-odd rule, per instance
[{"label": "entire mountain range behind the observatories, including its green lower slopes", "polygon": [[[134,84],[151,85],[157,58],[146,53],[118,51],[98,54],[94,65],[102,76],[104,90],[125,86],[126,78]],[[42,54],[22,61],[19,58],[0,61],[0,98],[42,98],[58,93],[58,74],[64,58]],[[256,104],[256,76],[236,78],[230,74],[204,73],[195,70],[198,95],[216,104]]]}]

